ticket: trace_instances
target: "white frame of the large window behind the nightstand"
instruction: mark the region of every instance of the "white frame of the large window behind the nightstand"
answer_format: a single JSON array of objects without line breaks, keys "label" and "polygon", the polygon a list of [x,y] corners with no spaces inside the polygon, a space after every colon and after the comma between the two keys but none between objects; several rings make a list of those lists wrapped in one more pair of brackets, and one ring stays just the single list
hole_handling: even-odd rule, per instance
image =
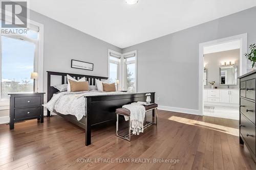
[{"label": "white frame of the large window behind the nightstand", "polygon": [[[36,44],[36,52],[34,59],[34,71],[38,72],[38,80],[35,80],[35,90],[43,91],[44,88],[44,25],[39,22],[33,21],[31,19],[27,19],[28,25],[34,25],[38,27],[38,38],[36,40],[32,40],[23,35],[3,35],[9,38],[23,38],[26,41],[32,42]],[[2,35],[1,35],[2,36]],[[0,80],[2,83],[2,38],[0,38]],[[10,105],[9,99],[1,99],[2,85],[0,84],[0,110],[8,110]],[[8,109],[7,109],[8,108]]]}]

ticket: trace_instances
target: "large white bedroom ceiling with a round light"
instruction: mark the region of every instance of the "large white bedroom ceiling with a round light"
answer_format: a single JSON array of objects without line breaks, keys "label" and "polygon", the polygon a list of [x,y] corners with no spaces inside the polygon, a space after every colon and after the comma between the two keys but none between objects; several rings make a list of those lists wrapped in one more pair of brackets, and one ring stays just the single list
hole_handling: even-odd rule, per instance
[{"label": "large white bedroom ceiling with a round light", "polygon": [[120,48],[256,6],[255,0],[31,0],[30,8]]}]

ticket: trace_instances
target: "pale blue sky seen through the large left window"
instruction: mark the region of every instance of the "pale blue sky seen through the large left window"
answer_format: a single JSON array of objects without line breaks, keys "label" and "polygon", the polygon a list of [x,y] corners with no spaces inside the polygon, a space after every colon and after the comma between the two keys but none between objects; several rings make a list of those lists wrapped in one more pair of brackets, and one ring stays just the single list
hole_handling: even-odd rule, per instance
[{"label": "pale blue sky seen through the large left window", "polygon": [[[28,37],[37,38],[37,33],[29,31]],[[2,79],[22,82],[30,79],[34,70],[35,45],[32,42],[1,36],[2,41]]]}]

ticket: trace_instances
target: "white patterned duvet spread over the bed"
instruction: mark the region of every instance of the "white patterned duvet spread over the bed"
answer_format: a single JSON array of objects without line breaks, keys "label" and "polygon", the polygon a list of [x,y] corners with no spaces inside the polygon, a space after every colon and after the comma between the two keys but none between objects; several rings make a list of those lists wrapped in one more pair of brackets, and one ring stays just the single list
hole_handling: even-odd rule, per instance
[{"label": "white patterned duvet spread over the bed", "polygon": [[86,98],[83,96],[122,94],[121,91],[101,92],[101,91],[79,91],[79,92],[59,92],[54,94],[52,99],[45,105],[51,112],[56,110],[61,114],[71,114],[80,120],[86,114]]}]

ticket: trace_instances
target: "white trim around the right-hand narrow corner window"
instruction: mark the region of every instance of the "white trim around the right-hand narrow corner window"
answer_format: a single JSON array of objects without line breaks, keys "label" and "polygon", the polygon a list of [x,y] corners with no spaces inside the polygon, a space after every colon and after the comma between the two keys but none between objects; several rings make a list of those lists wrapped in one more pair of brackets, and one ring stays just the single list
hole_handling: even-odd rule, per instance
[{"label": "white trim around the right-hand narrow corner window", "polygon": [[[130,54],[133,54],[135,53],[135,60],[133,61],[126,61],[124,60],[124,57],[123,56],[126,56],[126,55],[130,55]],[[129,58],[129,57],[128,57]],[[122,65],[123,65],[123,69],[122,69],[122,90],[127,90],[127,83],[126,83],[126,65],[127,64],[133,64],[135,63],[135,92],[137,92],[137,50],[135,51],[132,51],[132,52],[127,52],[127,53],[124,53],[122,54]]]}]

